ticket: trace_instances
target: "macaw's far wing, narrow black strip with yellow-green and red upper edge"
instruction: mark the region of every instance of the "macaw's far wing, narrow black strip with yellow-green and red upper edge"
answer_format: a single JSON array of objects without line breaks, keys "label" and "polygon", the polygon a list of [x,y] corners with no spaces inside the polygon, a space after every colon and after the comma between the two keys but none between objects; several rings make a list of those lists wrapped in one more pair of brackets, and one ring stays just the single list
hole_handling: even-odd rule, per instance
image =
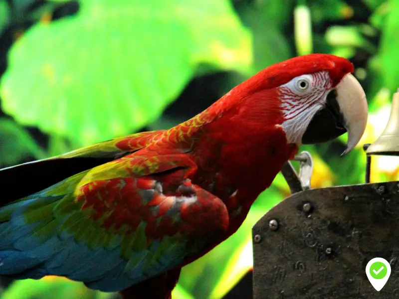
[{"label": "macaw's far wing, narrow black strip with yellow-green and red upper edge", "polygon": [[71,175],[142,149],[163,132],[133,134],[56,157],[0,169],[0,181],[7,182],[1,185],[0,206],[43,190]]}]

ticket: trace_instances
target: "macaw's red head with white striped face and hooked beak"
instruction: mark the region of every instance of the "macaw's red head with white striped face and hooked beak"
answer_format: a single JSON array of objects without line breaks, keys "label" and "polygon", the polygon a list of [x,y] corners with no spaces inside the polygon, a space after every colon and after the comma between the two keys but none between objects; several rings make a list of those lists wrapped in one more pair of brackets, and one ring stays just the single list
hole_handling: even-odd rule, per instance
[{"label": "macaw's red head with white striped face and hooked beak", "polygon": [[365,92],[353,72],[342,57],[298,56],[263,69],[235,93],[257,113],[267,107],[268,118],[282,127],[290,144],[322,143],[348,132],[345,154],[359,143],[368,116]]}]

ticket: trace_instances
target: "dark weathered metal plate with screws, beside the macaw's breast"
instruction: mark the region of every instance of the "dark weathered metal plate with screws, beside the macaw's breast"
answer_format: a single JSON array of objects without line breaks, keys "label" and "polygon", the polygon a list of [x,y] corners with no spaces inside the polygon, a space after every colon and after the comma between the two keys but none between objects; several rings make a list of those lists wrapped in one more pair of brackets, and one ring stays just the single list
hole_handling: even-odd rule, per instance
[{"label": "dark weathered metal plate with screws, beside the macaw's breast", "polygon": [[[399,181],[294,194],[253,227],[254,299],[397,299]],[[392,273],[377,292],[365,269]]]}]

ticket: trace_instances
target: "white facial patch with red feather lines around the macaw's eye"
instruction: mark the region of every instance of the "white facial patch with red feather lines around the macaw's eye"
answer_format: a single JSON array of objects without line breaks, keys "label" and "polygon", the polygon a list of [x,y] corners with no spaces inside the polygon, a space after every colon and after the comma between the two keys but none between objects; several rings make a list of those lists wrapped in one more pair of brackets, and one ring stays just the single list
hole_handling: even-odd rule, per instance
[{"label": "white facial patch with red feather lines around the macaw's eye", "polygon": [[326,103],[331,86],[328,72],[301,75],[280,86],[284,117],[281,126],[288,143],[301,144],[302,136],[313,116]]}]

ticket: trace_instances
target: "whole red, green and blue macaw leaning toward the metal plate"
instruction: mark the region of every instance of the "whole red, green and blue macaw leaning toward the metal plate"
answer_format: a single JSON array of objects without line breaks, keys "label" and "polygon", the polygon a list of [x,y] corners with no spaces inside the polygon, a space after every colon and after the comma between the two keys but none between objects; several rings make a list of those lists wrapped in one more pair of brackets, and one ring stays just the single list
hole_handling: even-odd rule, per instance
[{"label": "whole red, green and blue macaw leaning toward the metal plate", "polygon": [[335,55],[293,57],[168,130],[1,169],[0,276],[170,299],[301,145],[360,142],[368,105],[352,73]]}]

